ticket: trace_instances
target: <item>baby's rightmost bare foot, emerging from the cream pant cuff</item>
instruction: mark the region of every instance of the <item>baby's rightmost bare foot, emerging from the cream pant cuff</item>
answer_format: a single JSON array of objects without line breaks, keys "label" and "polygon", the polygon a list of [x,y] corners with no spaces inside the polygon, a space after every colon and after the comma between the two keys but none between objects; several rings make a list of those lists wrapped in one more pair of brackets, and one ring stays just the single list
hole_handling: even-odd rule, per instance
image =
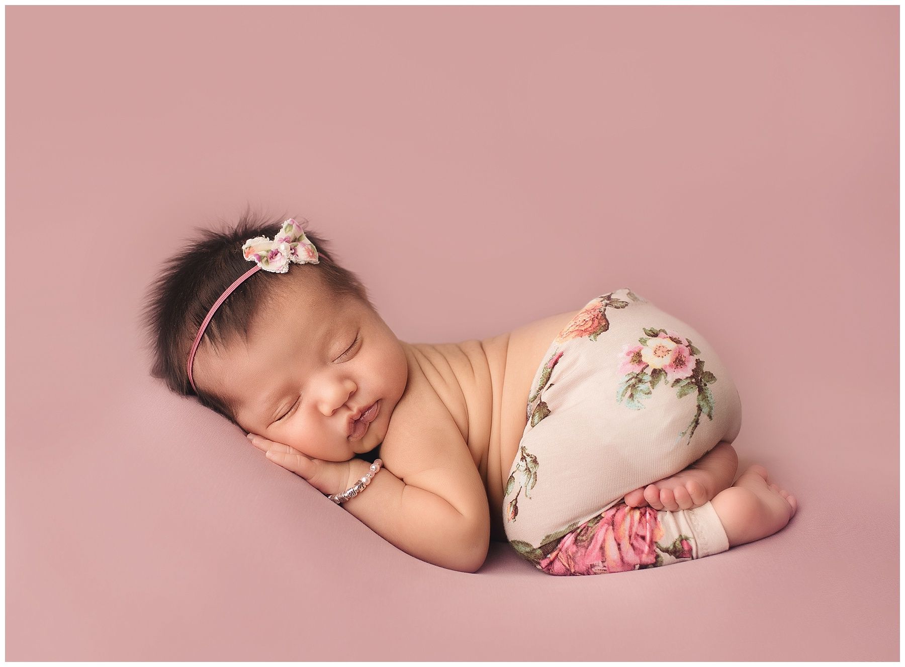
[{"label": "baby's rightmost bare foot, emerging from the cream pant cuff", "polygon": [[712,502],[726,529],[729,547],[773,535],[798,510],[795,496],[771,484],[767,468],[757,464],[742,472],[736,483],[720,491]]}]

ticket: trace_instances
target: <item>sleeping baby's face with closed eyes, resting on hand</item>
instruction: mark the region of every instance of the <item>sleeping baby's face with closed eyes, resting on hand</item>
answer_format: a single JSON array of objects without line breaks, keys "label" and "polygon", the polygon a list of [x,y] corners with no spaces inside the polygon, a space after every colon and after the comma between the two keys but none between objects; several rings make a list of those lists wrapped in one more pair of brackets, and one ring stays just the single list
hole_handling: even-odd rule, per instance
[{"label": "sleeping baby's face with closed eyes, resting on hand", "polygon": [[[236,341],[219,357],[199,349],[193,376],[233,399],[245,431],[348,461],[383,442],[408,366],[399,339],[367,305],[293,293],[254,323],[247,348]],[[375,403],[376,419],[352,440],[350,420]]]}]

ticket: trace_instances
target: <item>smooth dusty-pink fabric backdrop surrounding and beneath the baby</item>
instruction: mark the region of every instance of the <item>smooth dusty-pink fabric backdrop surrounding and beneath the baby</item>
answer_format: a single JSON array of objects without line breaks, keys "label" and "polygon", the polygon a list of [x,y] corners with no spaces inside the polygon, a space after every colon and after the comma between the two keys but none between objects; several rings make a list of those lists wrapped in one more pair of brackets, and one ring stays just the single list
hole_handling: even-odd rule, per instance
[{"label": "smooth dusty-pink fabric backdrop surrounding and beneath the baby", "polygon": [[[898,660],[898,25],[7,7],[6,660]],[[406,555],[148,377],[154,272],[247,202],[410,342],[631,285],[719,349],[798,513],[614,575]]]}]

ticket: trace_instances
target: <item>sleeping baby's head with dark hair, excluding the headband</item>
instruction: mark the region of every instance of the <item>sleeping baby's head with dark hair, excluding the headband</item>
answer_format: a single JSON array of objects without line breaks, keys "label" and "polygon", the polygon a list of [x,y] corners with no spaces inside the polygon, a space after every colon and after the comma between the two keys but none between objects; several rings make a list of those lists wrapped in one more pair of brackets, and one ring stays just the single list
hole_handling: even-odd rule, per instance
[{"label": "sleeping baby's head with dark hair, excluding the headband", "polygon": [[[254,272],[226,297],[195,351],[196,392],[189,381],[186,361],[208,311],[253,268],[243,244],[272,239],[280,227],[246,212],[232,229],[201,230],[201,239],[167,262],[144,313],[151,375],[180,395],[197,395],[244,431],[314,458],[348,461],[383,441],[408,370],[402,343],[365,286],[316,234],[305,231],[319,263]],[[350,439],[351,419],[376,402],[367,432]]]}]

